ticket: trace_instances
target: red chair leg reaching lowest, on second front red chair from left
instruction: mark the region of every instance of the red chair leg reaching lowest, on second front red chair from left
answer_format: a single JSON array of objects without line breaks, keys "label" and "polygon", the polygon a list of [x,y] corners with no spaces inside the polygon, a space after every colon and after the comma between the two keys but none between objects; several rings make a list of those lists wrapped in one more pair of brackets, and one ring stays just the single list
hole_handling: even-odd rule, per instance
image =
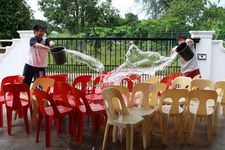
[{"label": "red chair leg reaching lowest, on second front red chair from left", "polygon": [[51,147],[51,128],[52,128],[52,117],[45,116],[45,142],[46,142],[46,147]]}]

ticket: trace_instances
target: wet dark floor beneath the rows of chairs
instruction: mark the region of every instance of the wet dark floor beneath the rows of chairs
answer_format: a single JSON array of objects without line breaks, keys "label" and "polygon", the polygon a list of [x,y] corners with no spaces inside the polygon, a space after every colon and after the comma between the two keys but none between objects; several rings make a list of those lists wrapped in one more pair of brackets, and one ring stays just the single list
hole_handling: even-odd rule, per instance
[{"label": "wet dark floor beneath the rows of chairs", "polygon": [[[45,148],[45,132],[44,124],[42,124],[40,142],[35,142],[35,128],[31,127],[31,133],[26,134],[24,132],[23,119],[13,120],[12,136],[7,135],[6,118],[4,118],[4,128],[0,129],[0,150],[40,150]],[[66,122],[66,121],[65,121]],[[195,128],[193,136],[193,144],[180,144],[177,138],[176,132],[169,131],[168,145],[163,146],[160,144],[161,135],[158,126],[155,126],[156,132],[153,135],[151,141],[151,147],[148,149],[185,149],[185,150],[201,150],[201,149],[225,149],[225,118],[221,115],[218,123],[218,134],[213,137],[213,142],[208,144],[206,125],[198,124]],[[88,124],[86,120],[84,127],[83,143],[77,144],[67,134],[67,125],[64,124],[63,134],[57,135],[55,128],[52,130],[52,150],[99,150],[101,149],[104,129],[98,132],[92,131],[91,123]],[[107,150],[119,150],[125,149],[125,140],[123,143],[112,143],[112,138],[109,136],[107,144]],[[134,149],[141,150],[142,138],[140,133],[134,134]]]}]

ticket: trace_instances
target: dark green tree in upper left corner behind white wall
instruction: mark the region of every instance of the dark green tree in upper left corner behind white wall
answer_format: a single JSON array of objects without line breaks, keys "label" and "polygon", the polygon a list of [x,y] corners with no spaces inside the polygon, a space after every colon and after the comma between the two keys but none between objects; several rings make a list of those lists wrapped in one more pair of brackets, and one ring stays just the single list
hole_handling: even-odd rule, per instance
[{"label": "dark green tree in upper left corner behind white wall", "polygon": [[18,37],[17,30],[31,29],[32,11],[26,0],[1,0],[0,38]]}]

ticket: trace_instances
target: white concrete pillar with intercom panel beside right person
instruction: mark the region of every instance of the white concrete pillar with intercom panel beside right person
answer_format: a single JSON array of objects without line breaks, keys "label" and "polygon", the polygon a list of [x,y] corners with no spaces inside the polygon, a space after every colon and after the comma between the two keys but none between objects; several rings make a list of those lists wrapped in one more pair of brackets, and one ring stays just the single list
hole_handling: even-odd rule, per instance
[{"label": "white concrete pillar with intercom panel beside right person", "polygon": [[[191,38],[200,38],[199,43],[196,44],[199,69],[203,78],[211,79],[212,36],[215,31],[190,31],[189,33]],[[204,59],[205,56],[206,59]]]}]

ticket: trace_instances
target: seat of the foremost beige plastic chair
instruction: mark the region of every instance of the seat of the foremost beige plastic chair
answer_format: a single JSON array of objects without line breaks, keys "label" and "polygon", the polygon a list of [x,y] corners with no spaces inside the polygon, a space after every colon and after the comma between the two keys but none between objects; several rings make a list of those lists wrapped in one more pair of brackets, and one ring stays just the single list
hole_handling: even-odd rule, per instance
[{"label": "seat of the foremost beige plastic chair", "polygon": [[108,119],[109,123],[117,125],[138,124],[144,119],[141,116],[128,114],[128,115],[115,115],[112,119]]}]

